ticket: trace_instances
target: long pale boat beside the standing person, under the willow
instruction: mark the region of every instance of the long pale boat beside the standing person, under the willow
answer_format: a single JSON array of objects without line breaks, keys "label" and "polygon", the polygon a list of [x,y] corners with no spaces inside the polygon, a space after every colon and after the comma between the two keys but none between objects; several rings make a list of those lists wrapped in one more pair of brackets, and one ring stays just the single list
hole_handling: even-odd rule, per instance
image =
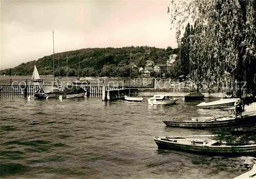
[{"label": "long pale boat beside the standing person, under the willow", "polygon": [[228,98],[211,101],[209,103],[202,102],[197,105],[198,108],[214,109],[214,108],[226,108],[234,106],[234,103],[240,98]]}]

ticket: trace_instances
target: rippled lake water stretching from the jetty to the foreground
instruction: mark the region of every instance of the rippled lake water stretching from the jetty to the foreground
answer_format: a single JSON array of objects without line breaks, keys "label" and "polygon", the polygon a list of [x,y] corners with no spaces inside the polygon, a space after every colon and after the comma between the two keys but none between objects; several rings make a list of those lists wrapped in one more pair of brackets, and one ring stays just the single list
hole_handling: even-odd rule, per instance
[{"label": "rippled lake water stretching from the jetty to the foreground", "polygon": [[[233,178],[251,157],[207,157],[158,149],[154,136],[204,135],[164,119],[215,116],[199,103],[148,106],[101,98],[0,99],[1,178]],[[239,137],[239,136],[238,136]]]}]

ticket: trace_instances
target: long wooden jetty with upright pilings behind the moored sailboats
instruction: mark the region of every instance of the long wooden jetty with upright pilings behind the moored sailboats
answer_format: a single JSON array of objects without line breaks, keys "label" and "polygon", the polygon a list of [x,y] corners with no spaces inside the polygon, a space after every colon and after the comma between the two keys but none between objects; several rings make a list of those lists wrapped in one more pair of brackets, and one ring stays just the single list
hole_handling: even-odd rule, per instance
[{"label": "long wooden jetty with upright pilings behind the moored sailboats", "polygon": [[[152,79],[148,79],[147,83],[145,83],[145,80],[142,81],[141,79],[136,79],[136,81],[137,83],[131,85],[130,91],[133,93],[138,93],[138,88],[154,87]],[[122,99],[124,95],[129,94],[129,80],[127,79],[92,80],[86,83],[78,83],[77,80],[72,80],[70,84],[72,84],[72,86],[82,87],[87,91],[88,97],[102,97],[104,101]],[[68,83],[65,82],[65,79],[62,81],[57,80],[56,83],[50,80],[42,80],[40,83],[31,82],[30,79],[0,80],[0,98],[26,98],[29,95],[33,95],[40,86],[55,86],[59,88],[60,91],[63,91],[68,86]]]}]

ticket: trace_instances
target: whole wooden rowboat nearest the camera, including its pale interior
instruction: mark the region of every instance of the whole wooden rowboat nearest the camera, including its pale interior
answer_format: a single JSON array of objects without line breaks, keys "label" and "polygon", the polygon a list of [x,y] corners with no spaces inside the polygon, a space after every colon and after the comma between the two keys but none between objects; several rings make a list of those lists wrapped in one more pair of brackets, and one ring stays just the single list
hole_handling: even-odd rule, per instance
[{"label": "whole wooden rowboat nearest the camera, including its pale interior", "polygon": [[[155,136],[154,141],[158,148],[186,151],[200,155],[242,156],[256,154],[256,143],[254,141],[226,143],[221,140],[207,139],[208,136]],[[200,137],[203,139],[200,139]]]}]

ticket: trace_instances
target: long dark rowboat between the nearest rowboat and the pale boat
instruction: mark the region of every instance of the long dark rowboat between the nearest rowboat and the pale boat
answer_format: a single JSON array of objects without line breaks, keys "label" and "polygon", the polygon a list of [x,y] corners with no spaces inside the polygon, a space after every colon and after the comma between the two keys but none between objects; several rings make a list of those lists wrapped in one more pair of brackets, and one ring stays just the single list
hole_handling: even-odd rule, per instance
[{"label": "long dark rowboat between the nearest rowboat and the pale boat", "polygon": [[233,127],[241,125],[249,125],[256,123],[256,114],[246,114],[242,118],[234,118],[230,116],[219,116],[211,118],[201,118],[197,120],[184,121],[163,121],[167,126],[181,127],[187,129],[218,129],[223,127]]}]

